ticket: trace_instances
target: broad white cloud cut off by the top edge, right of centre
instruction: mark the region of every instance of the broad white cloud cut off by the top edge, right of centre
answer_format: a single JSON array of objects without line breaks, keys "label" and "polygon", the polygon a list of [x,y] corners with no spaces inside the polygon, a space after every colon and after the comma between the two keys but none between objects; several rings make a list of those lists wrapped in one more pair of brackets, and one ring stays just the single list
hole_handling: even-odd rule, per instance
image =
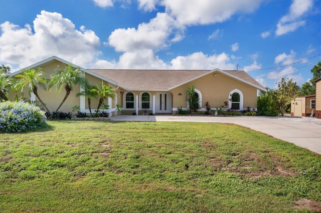
[{"label": "broad white cloud cut off by the top edge, right of centre", "polygon": [[181,24],[209,24],[223,22],[236,13],[253,12],[261,0],[163,0],[166,12]]}]

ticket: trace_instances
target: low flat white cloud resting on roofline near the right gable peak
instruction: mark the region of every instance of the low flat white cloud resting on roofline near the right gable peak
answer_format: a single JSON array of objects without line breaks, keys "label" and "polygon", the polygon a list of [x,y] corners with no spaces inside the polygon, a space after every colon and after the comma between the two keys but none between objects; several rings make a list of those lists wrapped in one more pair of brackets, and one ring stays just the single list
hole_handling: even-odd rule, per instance
[{"label": "low flat white cloud resting on roofline near the right gable peak", "polygon": [[206,55],[203,52],[194,52],[187,56],[177,56],[172,59],[172,69],[234,69],[234,64],[228,63],[226,53]]}]

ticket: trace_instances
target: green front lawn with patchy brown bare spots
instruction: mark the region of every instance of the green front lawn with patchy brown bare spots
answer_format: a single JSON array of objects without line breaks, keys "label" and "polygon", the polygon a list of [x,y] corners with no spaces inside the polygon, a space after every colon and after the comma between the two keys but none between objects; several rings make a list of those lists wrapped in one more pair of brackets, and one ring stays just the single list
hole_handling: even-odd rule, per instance
[{"label": "green front lawn with patchy brown bare spots", "polygon": [[242,126],[48,123],[42,131],[0,134],[0,212],[309,212],[303,207],[321,206],[321,155]]}]

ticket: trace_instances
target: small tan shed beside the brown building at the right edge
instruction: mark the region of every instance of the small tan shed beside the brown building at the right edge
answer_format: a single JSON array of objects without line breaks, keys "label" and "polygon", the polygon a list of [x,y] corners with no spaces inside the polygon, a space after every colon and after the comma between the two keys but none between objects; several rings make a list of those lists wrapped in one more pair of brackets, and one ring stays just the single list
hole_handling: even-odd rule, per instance
[{"label": "small tan shed beside the brown building at the right edge", "polygon": [[310,116],[315,113],[315,94],[298,96],[291,101],[291,116]]}]

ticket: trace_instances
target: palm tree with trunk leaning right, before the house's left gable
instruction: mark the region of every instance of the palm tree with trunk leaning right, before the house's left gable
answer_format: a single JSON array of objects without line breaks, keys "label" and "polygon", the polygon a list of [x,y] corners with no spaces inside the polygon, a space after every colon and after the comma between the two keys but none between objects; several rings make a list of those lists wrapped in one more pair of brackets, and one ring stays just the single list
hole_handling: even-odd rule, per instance
[{"label": "palm tree with trunk leaning right, before the house's left gable", "polygon": [[85,84],[85,77],[83,72],[79,68],[74,68],[70,64],[65,66],[65,69],[56,69],[57,72],[51,75],[51,80],[49,82],[49,88],[56,85],[57,92],[60,92],[62,86],[65,86],[66,95],[64,99],[59,104],[56,111],[59,110],[61,105],[66,101],[70,92],[73,90],[74,86],[78,83],[81,86]]}]

